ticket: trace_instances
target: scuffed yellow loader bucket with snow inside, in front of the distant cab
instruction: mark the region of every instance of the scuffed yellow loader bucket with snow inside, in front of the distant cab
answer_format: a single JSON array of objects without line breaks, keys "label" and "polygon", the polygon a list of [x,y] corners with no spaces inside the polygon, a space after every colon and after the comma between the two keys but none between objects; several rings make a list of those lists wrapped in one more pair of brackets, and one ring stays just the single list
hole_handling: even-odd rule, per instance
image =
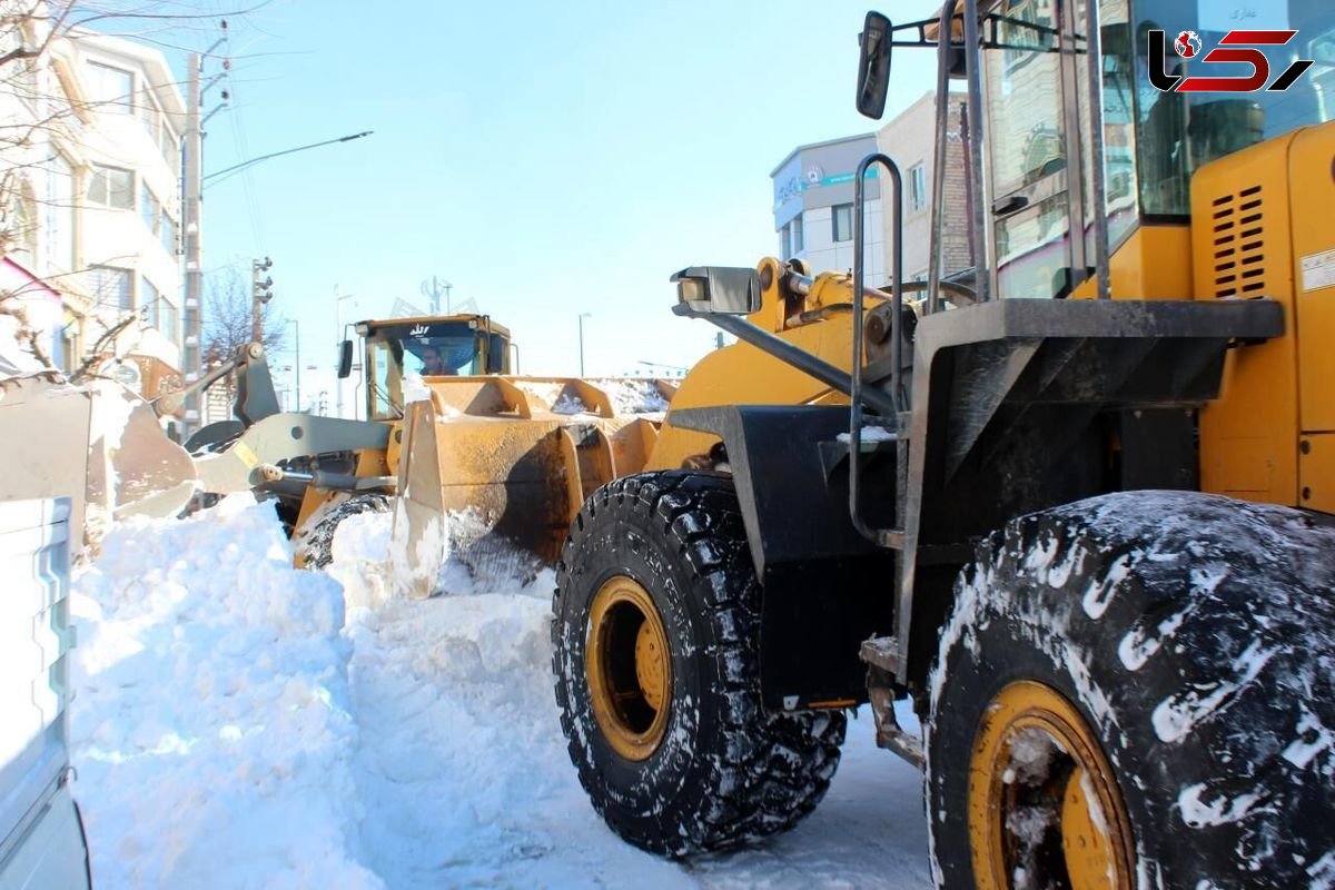
[{"label": "scuffed yellow loader bucket with snow inside, in front of the distant cab", "polygon": [[[555,562],[585,498],[643,468],[657,439],[655,423],[618,415],[617,394],[586,380],[443,378],[427,386],[431,398],[406,412],[394,511],[394,552],[403,563],[394,566],[395,584],[409,596],[437,592],[447,555],[474,570],[477,548],[486,558],[513,547]],[[470,522],[450,522],[461,515]]]}]

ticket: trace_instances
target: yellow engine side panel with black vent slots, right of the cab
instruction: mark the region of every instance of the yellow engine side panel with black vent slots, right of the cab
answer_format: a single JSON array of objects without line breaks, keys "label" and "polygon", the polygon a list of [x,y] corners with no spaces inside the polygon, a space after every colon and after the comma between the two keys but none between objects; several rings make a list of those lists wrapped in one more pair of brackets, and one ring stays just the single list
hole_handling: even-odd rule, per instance
[{"label": "yellow engine side panel with black vent slots, right of the cab", "polygon": [[[1196,299],[1266,296],[1286,319],[1283,336],[1228,354],[1220,399],[1200,414],[1202,488],[1291,506],[1299,503],[1299,326],[1290,195],[1312,187],[1290,179],[1295,135],[1207,164],[1191,189]],[[1328,163],[1322,172],[1330,177]]]}]

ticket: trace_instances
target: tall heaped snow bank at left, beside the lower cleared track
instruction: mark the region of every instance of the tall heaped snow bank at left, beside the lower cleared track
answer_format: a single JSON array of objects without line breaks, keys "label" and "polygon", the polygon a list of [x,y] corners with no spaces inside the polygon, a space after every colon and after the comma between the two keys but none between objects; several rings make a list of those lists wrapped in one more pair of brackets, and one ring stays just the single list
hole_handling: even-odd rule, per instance
[{"label": "tall heaped snow bank at left, beside the lower cleared track", "polygon": [[75,791],[100,887],[378,887],[343,604],[272,506],[134,520],[73,586]]}]

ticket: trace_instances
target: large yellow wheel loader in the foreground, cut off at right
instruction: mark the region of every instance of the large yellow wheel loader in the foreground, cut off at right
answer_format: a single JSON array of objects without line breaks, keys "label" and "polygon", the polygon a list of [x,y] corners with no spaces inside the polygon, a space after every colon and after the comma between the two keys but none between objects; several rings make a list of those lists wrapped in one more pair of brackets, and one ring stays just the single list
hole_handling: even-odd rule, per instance
[{"label": "large yellow wheel loader in the foreground, cut off at right", "polygon": [[741,343],[682,382],[651,471],[585,502],[553,599],[615,833],[686,855],[796,825],[866,703],[925,769],[939,886],[1335,883],[1335,7],[1252,5],[868,15],[862,113],[892,47],[937,57],[928,280],[880,153],[852,278],[674,276]]}]

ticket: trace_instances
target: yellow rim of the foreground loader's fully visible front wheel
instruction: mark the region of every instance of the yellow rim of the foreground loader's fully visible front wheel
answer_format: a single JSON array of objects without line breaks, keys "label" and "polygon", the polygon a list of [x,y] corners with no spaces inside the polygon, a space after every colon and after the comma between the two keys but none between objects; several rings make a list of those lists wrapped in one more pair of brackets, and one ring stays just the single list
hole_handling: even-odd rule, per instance
[{"label": "yellow rim of the foreground loader's fully visible front wheel", "polygon": [[649,759],[668,729],[672,656],[653,598],[625,575],[593,596],[585,674],[603,738],[627,761]]}]

